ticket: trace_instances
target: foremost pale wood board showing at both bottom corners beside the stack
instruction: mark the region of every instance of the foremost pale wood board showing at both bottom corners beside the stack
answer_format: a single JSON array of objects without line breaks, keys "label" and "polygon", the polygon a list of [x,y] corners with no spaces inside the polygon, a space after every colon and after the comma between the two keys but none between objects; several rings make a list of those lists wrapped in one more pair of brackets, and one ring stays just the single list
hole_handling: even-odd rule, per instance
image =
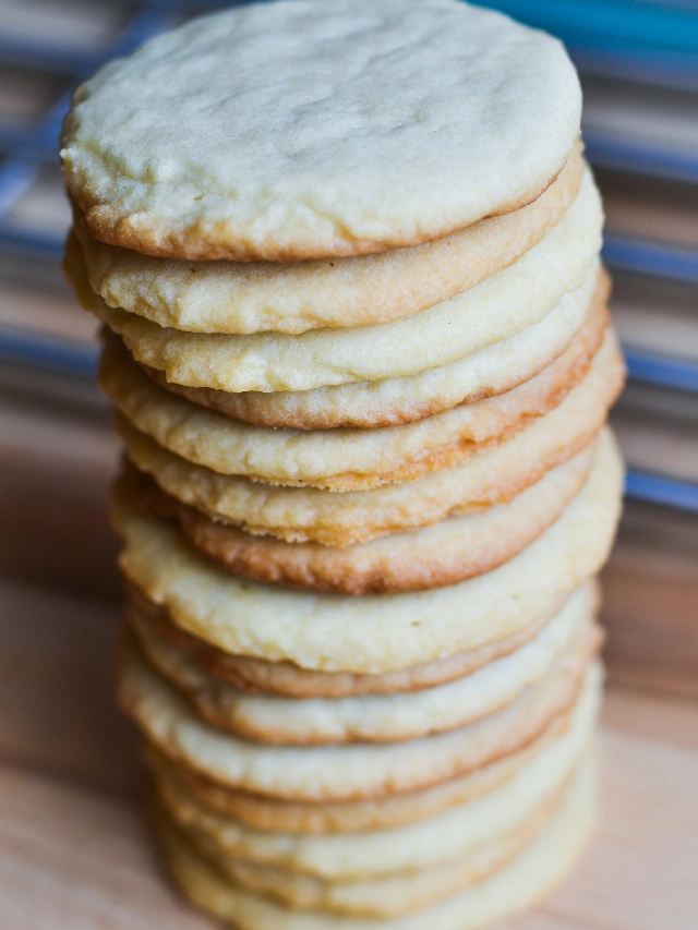
[{"label": "foremost pale wood board showing at both bottom corners beside the stack", "polygon": [[[614,698],[612,698],[612,701]],[[633,712],[631,696],[624,696]],[[642,715],[640,699],[634,713]],[[664,702],[679,730],[698,709]],[[606,726],[604,818],[580,870],[507,930],[695,930],[698,751]],[[135,801],[0,768],[0,926],[125,930],[212,926],[171,895]]]}]

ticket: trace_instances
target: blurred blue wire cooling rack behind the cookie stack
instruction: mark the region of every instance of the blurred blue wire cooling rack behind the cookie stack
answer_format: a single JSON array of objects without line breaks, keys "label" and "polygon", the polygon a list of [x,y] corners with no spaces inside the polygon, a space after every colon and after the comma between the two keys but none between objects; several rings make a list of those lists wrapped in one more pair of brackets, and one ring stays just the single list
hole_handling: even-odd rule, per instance
[{"label": "blurred blue wire cooling rack behind the cookie stack", "polygon": [[[80,14],[92,15],[87,0],[75,3]],[[246,0],[250,2],[250,0]],[[63,250],[63,229],[11,221],[15,206],[41,182],[57,162],[58,132],[68,109],[71,88],[110,58],[122,56],[152,36],[186,17],[246,2],[221,0],[142,0],[100,4],[109,9],[116,25],[105,40],[71,37],[67,28],[51,35],[46,28],[3,28],[0,15],[0,69],[21,69],[50,77],[60,88],[34,120],[17,122],[0,117],[0,253],[23,261],[58,263]],[[482,2],[482,0],[481,0]],[[5,7],[8,4],[5,3]],[[59,4],[60,5],[60,4]],[[582,72],[602,77],[654,83],[698,95],[698,14],[690,4],[674,0],[670,9],[637,0],[495,0],[495,7],[531,25],[556,32],[567,43]],[[664,8],[666,4],[664,4]],[[603,9],[601,9],[603,8]],[[23,0],[22,9],[40,26],[48,15],[47,0]],[[594,12],[595,11],[595,12]],[[2,7],[0,5],[0,14]],[[56,10],[52,10],[56,14]],[[599,14],[599,15],[597,15]],[[602,14],[602,15],[601,15]],[[595,24],[593,27],[589,23]],[[600,25],[599,25],[600,24]],[[69,35],[67,35],[67,33]],[[698,100],[698,96],[696,98]],[[585,133],[588,154],[598,166],[673,180],[698,182],[696,150],[675,150],[666,145],[615,136],[590,129]],[[698,285],[698,250],[606,235],[604,261],[612,268],[639,271]],[[80,378],[94,376],[96,349],[86,343],[0,327],[0,360],[59,371]],[[626,350],[630,376],[647,384],[698,395],[698,365],[651,352]],[[657,474],[630,472],[630,496],[698,512],[698,485]]]}]

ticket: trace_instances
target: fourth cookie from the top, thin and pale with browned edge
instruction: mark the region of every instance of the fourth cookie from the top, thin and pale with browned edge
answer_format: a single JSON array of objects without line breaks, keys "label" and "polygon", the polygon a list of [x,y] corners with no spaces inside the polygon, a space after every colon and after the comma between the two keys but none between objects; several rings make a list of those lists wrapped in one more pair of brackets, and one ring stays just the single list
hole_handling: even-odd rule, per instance
[{"label": "fourth cookie from the top, thin and pale with browned edge", "polygon": [[[585,283],[582,287],[590,287]],[[585,306],[571,291],[540,323],[485,346],[457,362],[417,375],[318,387],[313,390],[230,394],[168,382],[159,369],[144,365],[148,377],[188,400],[234,420],[260,426],[327,430],[337,426],[394,426],[423,420],[459,403],[493,397],[534,377],[571,342],[589,317],[604,312],[609,276],[601,271]]]}]

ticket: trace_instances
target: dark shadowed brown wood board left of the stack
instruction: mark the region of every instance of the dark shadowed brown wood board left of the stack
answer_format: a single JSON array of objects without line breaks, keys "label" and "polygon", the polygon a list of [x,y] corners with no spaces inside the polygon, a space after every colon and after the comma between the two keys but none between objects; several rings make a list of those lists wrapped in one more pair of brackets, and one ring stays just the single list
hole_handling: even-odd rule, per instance
[{"label": "dark shadowed brown wood board left of the stack", "polygon": [[0,584],[0,760],[133,790],[135,738],[111,684],[120,614],[100,602]]}]

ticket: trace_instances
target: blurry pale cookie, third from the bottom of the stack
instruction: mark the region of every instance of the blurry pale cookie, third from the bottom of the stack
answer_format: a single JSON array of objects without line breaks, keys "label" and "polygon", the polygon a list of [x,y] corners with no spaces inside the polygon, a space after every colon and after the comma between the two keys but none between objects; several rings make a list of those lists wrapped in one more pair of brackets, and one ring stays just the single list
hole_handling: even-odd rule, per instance
[{"label": "blurry pale cookie, third from the bottom of the stack", "polygon": [[[423,885],[431,874],[421,890],[410,885],[404,893],[390,895],[389,901],[385,895],[380,898],[378,914],[388,913],[388,908],[399,914],[414,907],[407,905],[416,895],[422,896],[423,905],[428,904],[429,887],[433,887],[436,878],[450,874],[457,882],[454,891],[465,886],[462,874],[454,873],[454,868],[457,872],[492,843],[520,835],[522,831],[528,833],[527,840],[532,836],[555,808],[587,752],[595,729],[598,701],[595,689],[581,696],[568,730],[502,784],[402,826],[310,836],[254,830],[234,818],[216,813],[185,788],[163,778],[161,773],[156,775],[153,794],[159,808],[205,858],[224,872],[232,870],[229,873],[236,881],[252,890],[260,887],[263,878],[260,870],[273,871],[275,881],[266,883],[267,893],[282,898],[292,894],[290,899],[296,906],[303,906],[297,893],[303,894],[304,899],[309,893],[322,897],[325,902],[322,909],[337,909],[329,903],[334,899],[338,906],[342,897],[341,910],[351,909],[352,898],[354,907],[366,906],[365,895],[375,896],[377,886],[386,882],[394,886],[406,878],[419,875]],[[530,831],[532,821],[534,830]],[[241,867],[246,868],[246,875],[238,874]],[[256,872],[256,885],[250,884],[255,879],[251,871]],[[315,905],[309,908],[317,909]]]}]

